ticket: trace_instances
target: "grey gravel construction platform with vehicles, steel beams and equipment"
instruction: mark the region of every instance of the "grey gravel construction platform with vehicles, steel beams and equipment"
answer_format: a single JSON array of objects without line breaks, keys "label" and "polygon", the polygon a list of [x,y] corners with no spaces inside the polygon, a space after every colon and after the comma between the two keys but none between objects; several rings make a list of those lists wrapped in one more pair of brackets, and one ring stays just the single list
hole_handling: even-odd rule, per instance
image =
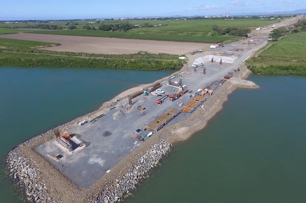
[{"label": "grey gravel construction platform with vehicles, steel beams and equipment", "polygon": [[125,99],[113,100],[104,112],[55,131],[55,137],[36,150],[77,186],[89,188],[155,132],[203,108],[266,41],[266,37],[253,37],[190,54],[196,58],[181,72]]}]

